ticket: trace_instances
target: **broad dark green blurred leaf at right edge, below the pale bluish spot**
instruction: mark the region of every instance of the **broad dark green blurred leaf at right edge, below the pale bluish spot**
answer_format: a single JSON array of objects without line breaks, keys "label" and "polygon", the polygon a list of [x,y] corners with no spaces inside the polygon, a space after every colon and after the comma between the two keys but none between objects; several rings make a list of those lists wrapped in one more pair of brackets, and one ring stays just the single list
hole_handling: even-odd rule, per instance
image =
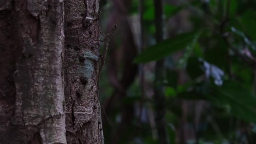
[{"label": "broad dark green blurred leaf at right edge, below the pale bluish spot", "polygon": [[237,82],[226,82],[215,89],[217,93],[209,97],[217,105],[229,105],[230,112],[247,122],[256,122],[256,99],[252,92]]}]

